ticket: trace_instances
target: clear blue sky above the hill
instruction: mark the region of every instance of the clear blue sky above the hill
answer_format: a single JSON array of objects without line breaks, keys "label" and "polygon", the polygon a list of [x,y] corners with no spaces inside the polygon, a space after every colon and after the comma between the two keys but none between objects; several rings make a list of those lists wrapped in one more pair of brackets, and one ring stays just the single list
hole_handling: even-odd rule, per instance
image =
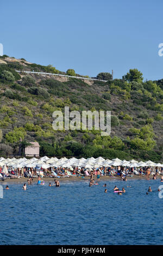
[{"label": "clear blue sky above the hill", "polygon": [[137,68],[143,78],[163,78],[162,0],[1,0],[4,54],[122,78]]}]

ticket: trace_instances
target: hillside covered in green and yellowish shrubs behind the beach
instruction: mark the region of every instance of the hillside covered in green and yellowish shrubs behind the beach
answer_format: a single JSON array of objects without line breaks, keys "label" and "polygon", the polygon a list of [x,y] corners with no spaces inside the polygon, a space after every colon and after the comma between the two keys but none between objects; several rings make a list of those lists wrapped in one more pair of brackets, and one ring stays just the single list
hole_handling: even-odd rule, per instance
[{"label": "hillside covered in green and yellowish shrubs behind the beach", "polygon": [[[109,74],[107,82],[27,75],[25,70],[65,74],[50,65],[0,57],[1,156],[17,154],[22,138],[23,145],[38,141],[46,156],[162,161],[163,79],[143,82],[137,69],[122,79],[111,80]],[[102,137],[98,130],[53,130],[52,113],[64,112],[65,106],[80,112],[111,110],[110,136]]]}]

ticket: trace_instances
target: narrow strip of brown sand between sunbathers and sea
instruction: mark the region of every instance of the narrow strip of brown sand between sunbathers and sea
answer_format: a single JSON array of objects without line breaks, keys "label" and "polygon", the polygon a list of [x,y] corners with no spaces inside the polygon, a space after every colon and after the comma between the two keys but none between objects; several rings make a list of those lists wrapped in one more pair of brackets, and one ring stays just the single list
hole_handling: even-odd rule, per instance
[{"label": "narrow strip of brown sand between sunbathers and sea", "polygon": [[[153,178],[152,175],[149,176],[150,180]],[[73,182],[76,182],[76,181],[89,181],[90,180],[90,177],[89,176],[86,176],[84,178],[81,178],[81,177],[65,177],[65,178],[55,178],[55,177],[43,177],[42,180],[44,180],[45,182],[54,182],[54,179],[55,180],[58,180],[59,182],[63,182],[63,181],[73,181]],[[109,181],[109,180],[112,180],[112,179],[116,179],[116,180],[122,180],[122,178],[120,177],[116,177],[116,176],[101,176],[100,177],[100,181]],[[7,184],[7,183],[19,183],[19,184],[22,184],[22,183],[28,183],[28,178],[25,178],[25,177],[21,177],[21,178],[5,178],[4,181],[0,181],[0,184]],[[37,178],[34,178],[32,183],[36,183],[36,180]],[[97,177],[95,176],[94,177],[94,180],[97,181]],[[146,179],[146,175],[143,175],[142,177],[139,177],[139,176],[133,176],[133,177],[127,177],[127,180],[147,180]],[[161,175],[158,175],[156,180],[161,180]]]}]

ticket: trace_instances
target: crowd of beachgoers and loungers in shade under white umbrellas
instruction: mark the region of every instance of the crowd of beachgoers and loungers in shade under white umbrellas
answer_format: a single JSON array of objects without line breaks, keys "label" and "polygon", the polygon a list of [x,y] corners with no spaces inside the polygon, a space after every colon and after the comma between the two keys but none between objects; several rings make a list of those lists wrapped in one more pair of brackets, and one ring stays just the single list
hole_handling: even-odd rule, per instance
[{"label": "crowd of beachgoers and loungers in shade under white umbrellas", "polygon": [[[6,166],[8,169],[8,166]],[[126,176],[131,176],[137,174],[139,177],[142,177],[143,175],[146,175],[146,178],[149,178],[149,175],[153,175],[154,179],[156,178],[156,175],[163,174],[163,168],[151,168],[149,166],[140,167],[139,169],[136,169],[134,167],[129,168],[127,166],[111,166],[111,167],[101,167],[101,168],[80,168],[80,167],[74,167],[74,168],[64,168],[64,167],[49,167],[47,169],[43,168],[10,168],[8,171],[8,174],[5,174],[5,177],[10,176],[12,178],[15,177],[66,177],[66,176],[97,176],[97,181],[99,181],[100,176],[103,175],[110,175],[110,176],[120,176],[122,178],[125,178]],[[0,167],[0,177],[4,177],[4,173],[2,171],[2,168]]]}]

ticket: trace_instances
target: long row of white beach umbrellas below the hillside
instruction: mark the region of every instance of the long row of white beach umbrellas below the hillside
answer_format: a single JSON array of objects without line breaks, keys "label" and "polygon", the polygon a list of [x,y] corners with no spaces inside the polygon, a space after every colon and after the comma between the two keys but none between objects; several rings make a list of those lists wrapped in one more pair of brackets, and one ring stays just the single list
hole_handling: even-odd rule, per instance
[{"label": "long row of white beach umbrellas below the hillside", "polygon": [[77,159],[72,157],[70,159],[66,157],[62,157],[58,159],[57,157],[48,158],[47,156],[41,157],[37,159],[35,157],[27,159],[26,157],[23,158],[0,158],[0,166],[8,166],[14,169],[22,168],[22,167],[29,167],[29,168],[43,168],[47,169],[49,167],[62,167],[62,168],[73,168],[73,167],[80,167],[80,168],[100,168],[100,167],[109,167],[109,166],[128,166],[130,168],[139,168],[143,166],[150,166],[150,167],[163,167],[162,163],[154,163],[151,160],[147,162],[138,162],[134,159],[127,161],[121,160],[118,158],[114,159],[104,159],[102,157],[98,158],[80,158]]}]

